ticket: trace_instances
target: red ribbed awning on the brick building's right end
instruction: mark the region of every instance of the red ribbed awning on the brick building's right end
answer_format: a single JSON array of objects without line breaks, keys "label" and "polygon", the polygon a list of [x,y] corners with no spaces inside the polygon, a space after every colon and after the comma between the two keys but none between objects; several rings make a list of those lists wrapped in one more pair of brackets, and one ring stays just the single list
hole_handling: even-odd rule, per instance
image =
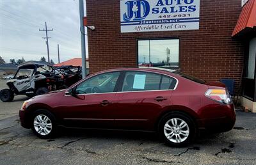
[{"label": "red ribbed awning on the brick building's right end", "polygon": [[252,29],[253,27],[256,27],[256,0],[249,0],[243,6],[232,36],[237,35],[245,29]]}]

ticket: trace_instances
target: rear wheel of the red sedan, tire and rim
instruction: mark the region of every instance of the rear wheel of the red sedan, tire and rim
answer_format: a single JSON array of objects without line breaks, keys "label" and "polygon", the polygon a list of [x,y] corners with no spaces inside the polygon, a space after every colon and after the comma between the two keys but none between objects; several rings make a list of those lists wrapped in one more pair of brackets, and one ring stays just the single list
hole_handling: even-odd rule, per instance
[{"label": "rear wheel of the red sedan, tire and rim", "polygon": [[171,146],[185,146],[195,138],[193,120],[183,113],[165,115],[159,123],[159,133],[165,143]]}]

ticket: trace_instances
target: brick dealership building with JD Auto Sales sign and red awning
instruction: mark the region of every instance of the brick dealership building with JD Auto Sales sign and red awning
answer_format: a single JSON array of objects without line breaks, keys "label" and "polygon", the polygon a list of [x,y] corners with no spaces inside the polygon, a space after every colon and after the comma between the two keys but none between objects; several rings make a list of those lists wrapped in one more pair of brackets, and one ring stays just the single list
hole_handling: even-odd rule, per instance
[{"label": "brick dealership building with JD Auto Sales sign and red awning", "polygon": [[90,73],[172,68],[234,83],[256,112],[256,0],[86,0]]}]

